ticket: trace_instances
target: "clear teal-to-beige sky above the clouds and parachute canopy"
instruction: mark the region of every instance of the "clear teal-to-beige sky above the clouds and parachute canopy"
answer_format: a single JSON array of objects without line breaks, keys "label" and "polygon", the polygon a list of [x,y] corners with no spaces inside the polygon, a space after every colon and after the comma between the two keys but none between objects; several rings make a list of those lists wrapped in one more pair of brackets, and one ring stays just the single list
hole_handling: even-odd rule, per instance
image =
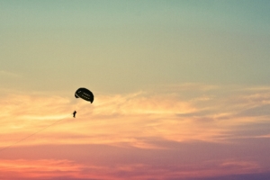
[{"label": "clear teal-to-beige sky above the clouds and parachute canopy", "polygon": [[268,85],[268,1],[1,4],[1,70],[20,74],[30,88],[84,84],[82,76],[114,92],[166,83]]}]

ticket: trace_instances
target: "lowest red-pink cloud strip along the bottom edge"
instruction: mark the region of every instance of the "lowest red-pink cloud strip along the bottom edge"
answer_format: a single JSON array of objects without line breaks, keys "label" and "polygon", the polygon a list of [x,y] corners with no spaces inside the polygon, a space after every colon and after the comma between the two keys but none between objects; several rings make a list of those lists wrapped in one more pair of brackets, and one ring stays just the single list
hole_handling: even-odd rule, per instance
[{"label": "lowest red-pink cloud strip along the bottom edge", "polygon": [[2,160],[0,177],[20,179],[201,179],[222,175],[258,173],[257,163],[248,161],[211,161],[189,165],[116,164],[96,166],[66,159]]}]

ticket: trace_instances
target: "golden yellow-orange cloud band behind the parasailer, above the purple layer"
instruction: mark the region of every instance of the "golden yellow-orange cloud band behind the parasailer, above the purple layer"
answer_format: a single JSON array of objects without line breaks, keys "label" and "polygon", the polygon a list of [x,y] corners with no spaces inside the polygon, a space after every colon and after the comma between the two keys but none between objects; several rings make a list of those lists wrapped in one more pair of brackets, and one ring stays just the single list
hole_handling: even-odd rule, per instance
[{"label": "golden yellow-orange cloud band behind the parasailer, above the purple layer", "polygon": [[[167,93],[99,94],[93,104],[66,96],[11,94],[0,103],[1,134],[4,139],[11,133],[27,136],[63,119],[40,133],[44,139],[39,143],[129,143],[166,148],[148,139],[227,143],[238,138],[239,127],[269,120],[270,94],[265,89],[193,84],[177,88]],[[186,99],[184,94],[193,96]],[[71,116],[74,109],[76,119]],[[259,129],[252,133],[258,135],[262,135]]]}]

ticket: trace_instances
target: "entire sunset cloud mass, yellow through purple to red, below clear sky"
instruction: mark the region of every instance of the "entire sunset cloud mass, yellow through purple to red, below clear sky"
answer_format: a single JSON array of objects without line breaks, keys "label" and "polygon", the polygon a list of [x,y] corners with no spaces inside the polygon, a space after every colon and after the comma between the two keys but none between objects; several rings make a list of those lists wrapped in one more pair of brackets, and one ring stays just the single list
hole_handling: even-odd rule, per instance
[{"label": "entire sunset cloud mass, yellow through purple to red, below clear sky", "polygon": [[[41,131],[5,149],[5,158],[37,150],[22,154],[27,166],[3,167],[2,175],[22,171],[26,179],[53,177],[55,172],[69,179],[199,179],[267,173],[268,88],[193,84],[166,88],[98,94],[94,103],[49,94],[4,96],[1,147]],[[13,164],[8,159],[2,162]],[[31,164],[51,168],[39,170]]]}]

